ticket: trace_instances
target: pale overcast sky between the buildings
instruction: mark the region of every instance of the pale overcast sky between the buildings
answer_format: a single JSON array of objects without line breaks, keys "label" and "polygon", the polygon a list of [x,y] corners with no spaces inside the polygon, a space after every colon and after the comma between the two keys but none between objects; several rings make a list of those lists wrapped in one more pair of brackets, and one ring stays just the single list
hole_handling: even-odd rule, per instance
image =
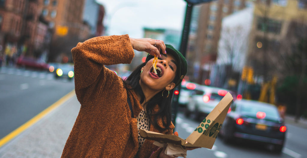
[{"label": "pale overcast sky between the buildings", "polygon": [[104,25],[108,35],[129,34],[143,38],[143,27],[181,31],[185,15],[184,0],[97,0],[106,9]]}]

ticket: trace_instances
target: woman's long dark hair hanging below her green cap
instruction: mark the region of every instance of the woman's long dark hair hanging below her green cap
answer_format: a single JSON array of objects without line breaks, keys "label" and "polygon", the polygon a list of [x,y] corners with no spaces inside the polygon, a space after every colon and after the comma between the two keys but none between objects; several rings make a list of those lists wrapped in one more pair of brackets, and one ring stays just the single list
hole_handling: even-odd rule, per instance
[{"label": "woman's long dark hair hanging below her green cap", "polygon": [[[124,85],[127,89],[133,89],[136,93],[138,93],[138,95],[141,96],[141,100],[140,103],[142,104],[145,100],[145,95],[142,91],[141,85],[139,83],[140,80],[140,74],[141,74],[141,69],[143,66],[146,65],[147,62],[142,63],[141,65],[139,65],[138,67],[136,67],[132,73],[130,74],[129,77],[126,78],[126,80],[123,80]],[[175,73],[175,78],[173,81],[177,81],[178,80],[178,75],[179,73]],[[127,85],[129,85],[131,88],[128,88]],[[169,125],[171,123],[171,119],[172,119],[172,108],[171,108],[171,101],[172,101],[172,97],[173,97],[173,93],[174,93],[174,89],[169,91],[169,97],[167,98],[163,98],[162,97],[162,91],[158,92],[155,96],[153,96],[149,101],[147,102],[147,106],[146,106],[146,113],[148,116],[156,116],[154,118],[154,121],[151,122],[153,123],[153,125],[158,128],[159,130],[166,130],[169,128]],[[168,95],[167,91],[164,91],[163,96],[166,97]],[[159,105],[160,110],[157,113],[152,113],[153,107],[155,107],[156,105]],[[158,118],[162,118],[162,123],[163,126],[165,126],[165,128],[161,127],[158,125],[157,123],[157,119]],[[164,121],[163,118],[166,118],[166,122]],[[150,119],[149,119],[150,120]]]}]

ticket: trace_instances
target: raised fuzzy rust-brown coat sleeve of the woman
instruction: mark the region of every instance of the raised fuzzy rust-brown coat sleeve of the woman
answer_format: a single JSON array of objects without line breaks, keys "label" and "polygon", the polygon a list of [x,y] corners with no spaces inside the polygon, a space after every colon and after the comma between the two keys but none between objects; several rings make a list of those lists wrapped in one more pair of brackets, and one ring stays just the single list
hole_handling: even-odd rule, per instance
[{"label": "raised fuzzy rust-brown coat sleeve of the woman", "polygon": [[[75,63],[75,91],[79,101],[91,90],[103,89],[106,82],[114,79],[113,71],[104,65],[130,64],[134,51],[128,35],[101,36],[78,43],[72,49]],[[92,88],[91,88],[92,87]]]}]

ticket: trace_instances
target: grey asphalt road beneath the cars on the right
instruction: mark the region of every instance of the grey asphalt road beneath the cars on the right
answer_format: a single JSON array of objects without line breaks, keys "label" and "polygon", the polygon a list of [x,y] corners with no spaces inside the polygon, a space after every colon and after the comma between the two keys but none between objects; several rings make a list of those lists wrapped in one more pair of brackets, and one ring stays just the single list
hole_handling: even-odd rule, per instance
[{"label": "grey asphalt road beneath the cars on the right", "polygon": [[[182,113],[177,115],[176,131],[179,137],[186,139],[200,124],[191,118],[185,118]],[[263,144],[255,143],[223,143],[220,136],[217,137],[212,149],[200,148],[187,152],[187,158],[194,157],[219,157],[219,158],[259,158],[259,157],[307,157],[307,130],[286,124],[286,143],[281,154],[274,153]]]}]

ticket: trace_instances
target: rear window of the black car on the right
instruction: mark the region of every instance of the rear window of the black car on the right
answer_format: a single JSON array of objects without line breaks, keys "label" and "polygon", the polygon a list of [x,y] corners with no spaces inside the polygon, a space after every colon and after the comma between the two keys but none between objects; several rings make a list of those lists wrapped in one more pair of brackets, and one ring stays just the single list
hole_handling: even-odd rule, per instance
[{"label": "rear window of the black car on the right", "polygon": [[277,108],[274,106],[262,105],[262,104],[240,104],[240,111],[247,115],[256,116],[257,112],[265,112],[266,118],[279,118]]}]

